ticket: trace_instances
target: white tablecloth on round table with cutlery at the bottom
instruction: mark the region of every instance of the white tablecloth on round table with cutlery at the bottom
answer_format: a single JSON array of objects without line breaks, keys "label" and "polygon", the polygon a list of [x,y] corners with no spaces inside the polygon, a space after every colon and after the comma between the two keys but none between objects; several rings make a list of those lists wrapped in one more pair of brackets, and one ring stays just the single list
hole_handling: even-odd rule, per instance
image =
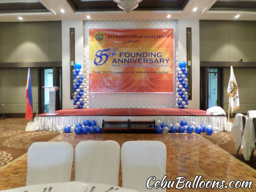
[{"label": "white tablecloth on round table with cutlery at the bottom", "polygon": [[38,185],[30,185],[25,187],[18,187],[15,189],[8,189],[1,192],[24,192],[28,190],[28,192],[42,192],[45,187],[47,187],[46,192],[48,192],[49,187],[52,187],[51,192],[90,192],[91,188],[95,186],[92,192],[105,192],[110,187],[113,189],[110,192],[114,192],[115,189],[118,188],[118,192],[138,192],[133,189],[126,189],[123,187],[112,186],[107,184],[99,184],[99,183],[83,183],[83,182],[66,182],[66,183],[49,183],[49,184],[38,184]]}]

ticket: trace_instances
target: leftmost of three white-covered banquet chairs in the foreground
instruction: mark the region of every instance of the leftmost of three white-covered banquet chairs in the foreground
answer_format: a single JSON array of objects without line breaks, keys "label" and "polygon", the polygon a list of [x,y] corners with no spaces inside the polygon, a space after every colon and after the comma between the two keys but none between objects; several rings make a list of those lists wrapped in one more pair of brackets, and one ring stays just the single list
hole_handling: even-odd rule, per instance
[{"label": "leftmost of three white-covered banquet chairs in the foreground", "polygon": [[26,185],[70,182],[73,155],[73,146],[67,142],[32,143]]}]

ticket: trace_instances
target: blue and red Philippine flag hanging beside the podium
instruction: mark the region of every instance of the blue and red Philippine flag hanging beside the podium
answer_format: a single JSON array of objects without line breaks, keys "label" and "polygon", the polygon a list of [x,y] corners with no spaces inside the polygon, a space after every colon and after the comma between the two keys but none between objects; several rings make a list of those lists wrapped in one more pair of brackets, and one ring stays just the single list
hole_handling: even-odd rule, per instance
[{"label": "blue and red Philippine flag hanging beside the podium", "polygon": [[27,99],[25,120],[27,121],[33,117],[33,102],[32,102],[32,87],[31,87],[30,68],[29,68],[29,73],[28,73],[25,97]]}]

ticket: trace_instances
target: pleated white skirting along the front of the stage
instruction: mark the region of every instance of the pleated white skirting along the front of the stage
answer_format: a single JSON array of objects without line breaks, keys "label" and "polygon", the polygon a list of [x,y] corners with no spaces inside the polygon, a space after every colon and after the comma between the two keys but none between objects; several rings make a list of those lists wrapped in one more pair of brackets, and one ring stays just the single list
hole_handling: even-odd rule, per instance
[{"label": "pleated white skirting along the front of the stage", "polygon": [[196,122],[196,125],[211,125],[219,127],[220,131],[227,131],[227,116],[36,116],[34,119],[34,131],[56,131],[59,126],[74,126],[77,123],[83,125],[85,120],[95,120],[97,126],[102,126],[104,121],[153,121],[162,123],[180,123],[185,120],[187,124]]}]

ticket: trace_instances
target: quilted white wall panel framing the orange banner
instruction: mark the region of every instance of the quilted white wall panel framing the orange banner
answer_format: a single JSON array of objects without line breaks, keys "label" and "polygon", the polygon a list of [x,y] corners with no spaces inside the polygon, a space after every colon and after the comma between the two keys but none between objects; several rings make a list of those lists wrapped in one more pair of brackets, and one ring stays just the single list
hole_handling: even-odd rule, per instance
[{"label": "quilted white wall panel framing the orange banner", "polygon": [[[89,93],[89,29],[174,29],[173,93]],[[174,108],[178,86],[178,21],[84,21],[84,100],[86,108]]]}]

